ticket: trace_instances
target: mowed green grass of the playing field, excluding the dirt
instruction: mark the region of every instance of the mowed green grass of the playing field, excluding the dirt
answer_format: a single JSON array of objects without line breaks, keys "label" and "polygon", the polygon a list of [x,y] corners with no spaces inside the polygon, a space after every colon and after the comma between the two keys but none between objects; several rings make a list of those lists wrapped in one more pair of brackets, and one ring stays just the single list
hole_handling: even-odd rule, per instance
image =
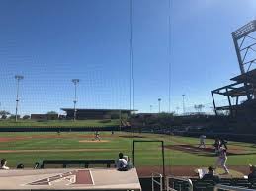
[{"label": "mowed green grass of the playing field, excluding the dirt", "polygon": [[[109,142],[102,143],[80,143],[81,140],[92,140],[93,133],[1,133],[1,138],[12,139],[14,137],[25,138],[20,140],[11,140],[0,142],[0,150],[32,150],[31,152],[21,153],[1,153],[1,158],[7,159],[11,167],[18,163],[24,163],[26,167],[33,166],[35,162],[43,159],[117,159],[119,152],[124,152],[132,156],[131,138],[121,136],[131,135],[128,133],[110,132],[101,133],[103,140]],[[39,136],[51,136],[49,138]],[[88,137],[91,136],[91,137]],[[199,140],[195,138],[170,137],[164,135],[140,134],[144,138],[135,138],[136,140],[163,140],[165,145],[174,145],[179,143],[196,145]],[[207,143],[213,144],[213,140],[208,139]],[[247,165],[256,163],[256,147],[252,144],[241,142],[230,142],[229,147],[237,146],[250,150],[250,153],[244,155],[228,156],[227,165]],[[90,149],[90,151],[56,151],[67,149]],[[106,149],[107,151],[101,151]],[[49,150],[48,152],[40,150]],[[51,150],[51,152],[50,152]],[[52,150],[54,150],[52,152]],[[91,151],[92,150],[92,151]],[[190,154],[181,151],[165,149],[165,161],[167,165],[213,165],[216,157],[205,155],[204,153]],[[136,166],[155,166],[161,165],[161,147],[157,143],[137,143],[135,151]]]}]

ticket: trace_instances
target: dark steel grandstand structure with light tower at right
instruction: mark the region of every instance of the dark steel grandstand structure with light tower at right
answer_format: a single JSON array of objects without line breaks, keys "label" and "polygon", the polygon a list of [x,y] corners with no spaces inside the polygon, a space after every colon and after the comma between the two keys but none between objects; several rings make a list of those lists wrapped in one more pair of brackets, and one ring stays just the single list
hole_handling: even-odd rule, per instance
[{"label": "dark steel grandstand structure with light tower at right", "polygon": [[[256,45],[256,39],[253,37],[255,32],[256,20],[232,33],[241,74],[231,78],[234,83],[212,91],[216,115],[218,115],[218,111],[223,110],[229,111],[233,117],[255,112],[256,56],[249,54],[250,51],[255,51],[253,49]],[[228,105],[217,106],[214,99],[215,94],[227,97]],[[232,104],[231,98],[235,98],[235,104]]]}]

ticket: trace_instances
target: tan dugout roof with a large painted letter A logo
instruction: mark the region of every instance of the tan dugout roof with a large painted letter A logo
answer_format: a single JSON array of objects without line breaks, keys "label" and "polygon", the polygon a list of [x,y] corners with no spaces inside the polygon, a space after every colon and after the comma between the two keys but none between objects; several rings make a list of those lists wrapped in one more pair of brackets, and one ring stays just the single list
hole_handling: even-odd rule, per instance
[{"label": "tan dugout roof with a large painted letter A logo", "polygon": [[0,177],[0,190],[141,191],[135,168],[2,170]]}]

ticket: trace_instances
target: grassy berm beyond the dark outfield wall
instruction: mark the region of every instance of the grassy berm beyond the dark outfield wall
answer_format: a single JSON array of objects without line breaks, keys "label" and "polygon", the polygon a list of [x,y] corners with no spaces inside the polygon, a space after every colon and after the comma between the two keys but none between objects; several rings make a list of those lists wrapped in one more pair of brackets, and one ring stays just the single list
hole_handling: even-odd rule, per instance
[{"label": "grassy berm beyond the dark outfield wall", "polygon": [[0,120],[0,127],[109,127],[119,126],[119,120]]}]

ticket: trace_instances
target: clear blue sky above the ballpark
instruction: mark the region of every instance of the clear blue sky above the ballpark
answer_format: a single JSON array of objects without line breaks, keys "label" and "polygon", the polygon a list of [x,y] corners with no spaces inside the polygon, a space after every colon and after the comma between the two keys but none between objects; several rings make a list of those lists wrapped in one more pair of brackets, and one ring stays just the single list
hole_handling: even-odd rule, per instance
[{"label": "clear blue sky above the ballpark", "polygon": [[[134,0],[135,108],[168,111],[208,104],[210,91],[239,74],[231,32],[255,19],[255,0]],[[171,56],[168,15],[171,14]],[[0,102],[20,113],[72,107],[129,108],[128,0],[0,0]]]}]

